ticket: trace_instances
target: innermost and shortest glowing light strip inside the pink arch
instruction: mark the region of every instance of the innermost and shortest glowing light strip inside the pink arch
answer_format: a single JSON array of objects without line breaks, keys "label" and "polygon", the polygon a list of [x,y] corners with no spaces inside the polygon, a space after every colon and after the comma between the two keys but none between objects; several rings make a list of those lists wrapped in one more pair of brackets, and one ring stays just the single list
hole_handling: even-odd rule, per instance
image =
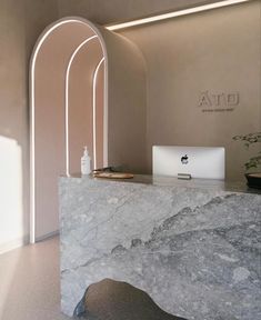
[{"label": "innermost and shortest glowing light strip inside the pink arch", "polygon": [[92,80],[93,169],[97,169],[97,123],[96,123],[97,122],[97,116],[96,116],[97,114],[97,76],[103,61],[104,61],[104,57],[98,63],[96,71],[94,71],[93,80]]}]

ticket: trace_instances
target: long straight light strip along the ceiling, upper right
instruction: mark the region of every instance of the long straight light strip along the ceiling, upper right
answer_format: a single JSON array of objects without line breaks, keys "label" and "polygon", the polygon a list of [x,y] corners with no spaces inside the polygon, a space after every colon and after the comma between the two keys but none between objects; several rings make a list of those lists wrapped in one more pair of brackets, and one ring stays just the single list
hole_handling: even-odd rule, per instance
[{"label": "long straight light strip along the ceiling, upper right", "polygon": [[207,11],[207,10],[211,10],[211,9],[222,8],[222,7],[237,4],[237,3],[241,3],[241,2],[248,2],[248,1],[251,1],[251,0],[219,1],[219,2],[199,6],[199,7],[194,7],[194,8],[189,8],[189,9],[184,9],[184,10],[173,11],[173,12],[169,12],[169,13],[162,13],[162,14],[158,14],[158,16],[153,16],[153,17],[149,17],[149,18],[132,20],[129,22],[118,23],[118,24],[113,24],[113,26],[107,26],[106,28],[110,31],[114,31],[114,30],[131,28],[131,27],[135,27],[135,26],[140,26],[140,24],[147,24],[147,23],[151,23],[151,22],[157,22],[157,21],[174,18],[174,17],[191,14],[191,13],[195,13],[195,12]]}]

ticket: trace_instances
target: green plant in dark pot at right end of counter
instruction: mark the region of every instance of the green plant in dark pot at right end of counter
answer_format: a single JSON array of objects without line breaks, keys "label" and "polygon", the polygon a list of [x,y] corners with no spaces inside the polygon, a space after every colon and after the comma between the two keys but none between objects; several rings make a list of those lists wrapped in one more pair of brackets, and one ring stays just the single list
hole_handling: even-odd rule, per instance
[{"label": "green plant in dark pot at right end of counter", "polygon": [[[241,141],[247,149],[255,143],[261,143],[261,132],[248,133],[245,136],[235,136],[233,140]],[[250,188],[261,188],[261,148],[258,154],[251,157],[245,163],[245,178]]]}]

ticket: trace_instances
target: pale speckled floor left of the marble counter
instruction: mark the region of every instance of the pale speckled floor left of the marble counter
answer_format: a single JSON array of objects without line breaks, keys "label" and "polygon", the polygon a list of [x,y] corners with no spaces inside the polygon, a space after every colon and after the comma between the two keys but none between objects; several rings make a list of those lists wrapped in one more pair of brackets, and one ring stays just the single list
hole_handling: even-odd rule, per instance
[{"label": "pale speckled floor left of the marble counter", "polygon": [[60,312],[59,239],[0,256],[1,320],[68,320]]}]

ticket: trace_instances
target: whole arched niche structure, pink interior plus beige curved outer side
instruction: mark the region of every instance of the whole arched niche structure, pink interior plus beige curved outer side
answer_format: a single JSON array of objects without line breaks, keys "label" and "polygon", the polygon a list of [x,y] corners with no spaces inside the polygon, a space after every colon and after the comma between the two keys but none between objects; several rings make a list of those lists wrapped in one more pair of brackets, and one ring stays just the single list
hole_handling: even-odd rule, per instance
[{"label": "whole arched niche structure, pink interior plus beige curved outer side", "polygon": [[49,26],[30,66],[31,242],[59,230],[58,177],[92,168],[145,168],[145,68],[138,48],[90,21]]}]

